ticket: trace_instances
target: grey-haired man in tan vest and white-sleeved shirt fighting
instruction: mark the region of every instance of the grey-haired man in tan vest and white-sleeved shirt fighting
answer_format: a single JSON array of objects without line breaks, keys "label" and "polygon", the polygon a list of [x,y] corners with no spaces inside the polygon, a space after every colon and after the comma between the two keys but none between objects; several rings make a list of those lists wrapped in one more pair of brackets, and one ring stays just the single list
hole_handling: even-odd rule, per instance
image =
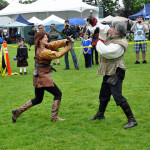
[{"label": "grey-haired man in tan vest and white-sleeved shirt fighting", "polygon": [[[102,24],[100,24],[99,28],[101,27],[103,27]],[[112,95],[116,105],[121,106],[128,118],[128,123],[124,127],[124,129],[127,129],[136,126],[137,122],[127,99],[122,95],[122,83],[126,71],[123,54],[128,49],[128,42],[125,37],[126,24],[124,22],[113,22],[105,44],[101,41],[97,42],[96,49],[101,55],[98,75],[103,75],[103,82],[99,95],[99,110],[97,114],[89,120],[105,118],[104,112]],[[115,78],[112,79],[114,76]]]}]

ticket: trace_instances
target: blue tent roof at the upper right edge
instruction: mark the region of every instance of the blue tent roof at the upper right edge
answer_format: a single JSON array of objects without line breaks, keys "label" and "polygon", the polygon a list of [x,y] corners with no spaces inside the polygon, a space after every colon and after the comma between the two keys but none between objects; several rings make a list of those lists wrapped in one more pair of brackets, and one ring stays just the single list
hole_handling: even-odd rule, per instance
[{"label": "blue tent roof at the upper right edge", "polygon": [[[146,9],[146,16],[150,15],[150,3],[148,3],[145,6],[145,9]],[[129,16],[129,18],[135,19],[135,18],[138,18],[138,16],[143,16],[143,10],[144,10],[144,8],[142,10],[140,10],[139,12],[137,12],[136,14]]]}]

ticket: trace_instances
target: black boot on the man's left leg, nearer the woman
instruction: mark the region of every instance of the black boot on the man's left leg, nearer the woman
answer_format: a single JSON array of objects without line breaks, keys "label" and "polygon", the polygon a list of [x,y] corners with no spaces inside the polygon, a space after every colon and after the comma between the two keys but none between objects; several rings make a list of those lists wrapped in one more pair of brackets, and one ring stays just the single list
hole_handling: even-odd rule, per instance
[{"label": "black boot on the man's left leg, nearer the woman", "polygon": [[89,120],[96,120],[96,119],[104,119],[104,112],[106,110],[108,102],[100,102],[100,106],[99,106],[99,110],[96,113],[96,115],[92,118],[90,118]]}]

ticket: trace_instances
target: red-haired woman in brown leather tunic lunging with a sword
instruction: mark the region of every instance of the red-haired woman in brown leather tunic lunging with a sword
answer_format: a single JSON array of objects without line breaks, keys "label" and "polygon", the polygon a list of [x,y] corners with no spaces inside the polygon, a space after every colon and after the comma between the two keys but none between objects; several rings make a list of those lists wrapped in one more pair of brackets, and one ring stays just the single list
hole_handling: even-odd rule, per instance
[{"label": "red-haired woman in brown leather tunic lunging with a sword", "polygon": [[[52,67],[50,63],[52,59],[60,58],[65,53],[71,50],[71,44],[74,42],[70,40],[58,40],[47,43],[48,35],[46,32],[38,32],[35,35],[35,71],[33,72],[33,85],[35,87],[35,98],[28,101],[26,104],[18,109],[12,110],[12,121],[16,122],[21,113],[26,111],[32,106],[40,104],[43,101],[44,91],[54,95],[52,106],[51,121],[64,121],[58,117],[58,110],[61,102],[62,92],[57,85],[53,82],[50,75]],[[64,47],[65,46],[65,47]],[[56,49],[64,47],[61,51],[57,52]]]}]

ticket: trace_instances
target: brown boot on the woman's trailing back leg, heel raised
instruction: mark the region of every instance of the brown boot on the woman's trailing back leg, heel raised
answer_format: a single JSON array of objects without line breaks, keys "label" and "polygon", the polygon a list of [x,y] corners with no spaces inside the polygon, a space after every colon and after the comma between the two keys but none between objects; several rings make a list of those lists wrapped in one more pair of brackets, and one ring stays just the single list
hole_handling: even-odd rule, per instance
[{"label": "brown boot on the woman's trailing back leg, heel raised", "polygon": [[29,109],[32,106],[33,106],[32,102],[28,101],[26,104],[24,104],[20,108],[12,110],[12,114],[13,114],[12,121],[13,121],[13,123],[16,122],[17,118],[20,116],[21,113],[23,113],[24,111],[26,111],[27,109]]}]

